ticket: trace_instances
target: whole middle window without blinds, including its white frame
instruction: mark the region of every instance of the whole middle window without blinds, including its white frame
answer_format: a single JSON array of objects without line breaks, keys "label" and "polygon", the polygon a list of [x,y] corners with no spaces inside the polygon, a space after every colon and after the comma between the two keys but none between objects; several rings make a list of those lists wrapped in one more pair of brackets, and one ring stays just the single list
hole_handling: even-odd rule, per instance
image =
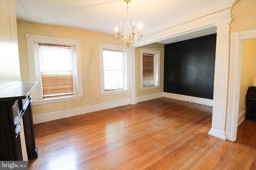
[{"label": "whole middle window without blinds, including its white frame", "polygon": [[100,54],[100,94],[128,92],[127,47],[99,43]]}]

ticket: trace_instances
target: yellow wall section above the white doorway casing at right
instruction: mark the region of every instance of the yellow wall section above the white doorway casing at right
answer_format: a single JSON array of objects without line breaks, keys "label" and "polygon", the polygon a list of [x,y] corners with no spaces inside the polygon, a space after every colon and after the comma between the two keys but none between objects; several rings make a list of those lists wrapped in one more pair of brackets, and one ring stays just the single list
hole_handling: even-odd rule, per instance
[{"label": "yellow wall section above the white doorway casing at right", "polygon": [[238,0],[231,14],[231,33],[256,29],[256,0]]}]

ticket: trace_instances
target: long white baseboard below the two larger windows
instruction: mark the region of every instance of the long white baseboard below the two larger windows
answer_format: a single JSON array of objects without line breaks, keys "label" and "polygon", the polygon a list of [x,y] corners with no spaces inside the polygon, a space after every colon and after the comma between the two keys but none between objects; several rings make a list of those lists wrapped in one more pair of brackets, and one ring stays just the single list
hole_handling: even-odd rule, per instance
[{"label": "long white baseboard below the two larger windows", "polygon": [[105,102],[99,104],[92,104],[88,106],[75,107],[71,109],[63,109],[57,111],[51,111],[47,113],[40,113],[33,115],[34,124],[42,123],[46,121],[52,121],[56,119],[62,119],[66,117],[82,115],[93,111],[99,111],[104,109],[110,109],[113,107],[124,106],[130,103],[130,99],[117,100],[112,102]]}]

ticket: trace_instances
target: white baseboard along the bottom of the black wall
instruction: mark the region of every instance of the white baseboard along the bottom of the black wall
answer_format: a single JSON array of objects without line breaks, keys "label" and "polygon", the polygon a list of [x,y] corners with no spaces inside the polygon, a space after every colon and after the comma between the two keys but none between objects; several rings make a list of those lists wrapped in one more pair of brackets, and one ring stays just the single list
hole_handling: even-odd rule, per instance
[{"label": "white baseboard along the bottom of the black wall", "polygon": [[211,107],[213,106],[212,99],[204,99],[204,98],[185,96],[185,95],[181,95],[181,94],[174,94],[174,93],[167,93],[167,92],[164,92],[164,97],[170,98],[170,99],[175,99],[175,100],[196,103],[196,104],[202,104],[202,105],[211,106]]}]

